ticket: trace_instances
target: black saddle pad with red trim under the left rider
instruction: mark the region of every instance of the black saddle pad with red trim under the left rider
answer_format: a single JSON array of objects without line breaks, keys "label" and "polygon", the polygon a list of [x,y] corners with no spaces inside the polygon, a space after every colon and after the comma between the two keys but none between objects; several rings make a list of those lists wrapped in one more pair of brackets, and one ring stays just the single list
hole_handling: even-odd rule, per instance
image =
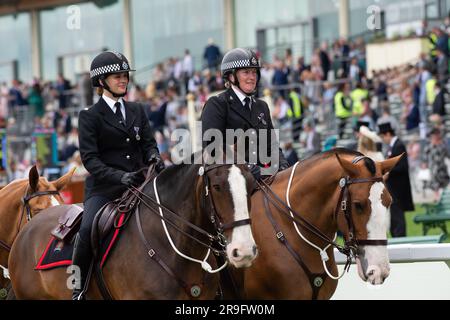
[{"label": "black saddle pad with red trim under the left rider", "polygon": [[[124,218],[125,214],[122,213],[119,218],[119,225],[122,225]],[[101,258],[100,267],[105,265],[111,250],[117,242],[120,230],[122,229],[112,228],[108,236],[102,240],[99,250],[99,257]],[[73,246],[74,243],[72,242],[60,241],[52,236],[34,269],[51,270],[58,267],[70,266],[72,264]]]}]

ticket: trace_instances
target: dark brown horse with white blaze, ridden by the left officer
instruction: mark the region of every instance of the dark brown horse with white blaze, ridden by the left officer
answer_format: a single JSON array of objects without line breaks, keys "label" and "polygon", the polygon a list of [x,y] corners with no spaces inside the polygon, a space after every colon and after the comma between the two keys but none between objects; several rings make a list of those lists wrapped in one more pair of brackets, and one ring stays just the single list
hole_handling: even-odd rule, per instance
[{"label": "dark brown horse with white blaze, ridden by the left officer", "polygon": [[[213,299],[224,267],[214,254],[237,268],[255,259],[249,225],[254,178],[247,166],[175,165],[141,188],[134,217],[102,269],[110,298]],[[65,268],[34,270],[59,215],[38,215],[14,242],[9,265],[18,299],[71,298]],[[104,297],[92,280],[86,296]]]}]

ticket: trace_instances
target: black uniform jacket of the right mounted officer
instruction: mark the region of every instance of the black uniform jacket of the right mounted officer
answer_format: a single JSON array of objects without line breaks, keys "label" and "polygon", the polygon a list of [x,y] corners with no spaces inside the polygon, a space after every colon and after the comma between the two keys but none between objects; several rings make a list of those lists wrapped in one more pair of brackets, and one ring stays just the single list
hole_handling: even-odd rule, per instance
[{"label": "black uniform jacket of the right mounted officer", "polygon": [[[208,129],[218,129],[223,134],[224,144],[226,138],[226,129],[242,129],[245,131],[253,129],[253,134],[257,135],[257,146],[261,147],[260,129],[273,129],[272,120],[270,117],[270,111],[267,104],[259,99],[253,99],[251,110],[245,108],[242,102],[239,100],[233,89],[228,89],[221,94],[211,97],[206,102],[202,112],[202,136]],[[267,132],[267,152],[263,154],[271,155],[270,146],[275,144],[272,148],[279,152],[280,165],[285,164],[288,166],[287,161],[278,147],[276,139],[272,141],[270,131]],[[206,147],[212,141],[203,141],[203,147]],[[234,141],[235,143],[236,141]],[[248,152],[249,147],[246,144],[246,157],[249,160]],[[252,149],[254,150],[254,149]],[[253,151],[252,151],[253,152]],[[256,151],[258,165],[264,165],[262,159],[259,158],[259,149]]]}]

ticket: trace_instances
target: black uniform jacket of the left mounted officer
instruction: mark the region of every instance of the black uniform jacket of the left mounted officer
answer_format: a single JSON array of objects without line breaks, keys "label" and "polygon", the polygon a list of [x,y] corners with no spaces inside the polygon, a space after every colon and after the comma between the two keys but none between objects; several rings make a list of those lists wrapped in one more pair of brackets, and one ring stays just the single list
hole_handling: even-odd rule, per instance
[{"label": "black uniform jacket of the left mounted officer", "polygon": [[85,182],[85,200],[93,195],[120,197],[126,190],[120,182],[123,174],[145,167],[150,156],[158,153],[143,107],[123,102],[126,125],[119,123],[103,98],[80,112],[80,154],[90,173]]}]

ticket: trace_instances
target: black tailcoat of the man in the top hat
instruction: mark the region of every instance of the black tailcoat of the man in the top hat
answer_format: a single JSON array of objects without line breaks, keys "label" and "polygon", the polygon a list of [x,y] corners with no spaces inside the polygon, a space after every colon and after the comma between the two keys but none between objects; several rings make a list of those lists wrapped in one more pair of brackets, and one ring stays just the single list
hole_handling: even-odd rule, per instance
[{"label": "black tailcoat of the man in the top hat", "polygon": [[398,203],[403,211],[414,211],[411,182],[409,180],[408,155],[405,145],[399,139],[395,141],[389,158],[399,156],[403,152],[405,152],[405,155],[389,173],[386,185],[393,200]]}]

